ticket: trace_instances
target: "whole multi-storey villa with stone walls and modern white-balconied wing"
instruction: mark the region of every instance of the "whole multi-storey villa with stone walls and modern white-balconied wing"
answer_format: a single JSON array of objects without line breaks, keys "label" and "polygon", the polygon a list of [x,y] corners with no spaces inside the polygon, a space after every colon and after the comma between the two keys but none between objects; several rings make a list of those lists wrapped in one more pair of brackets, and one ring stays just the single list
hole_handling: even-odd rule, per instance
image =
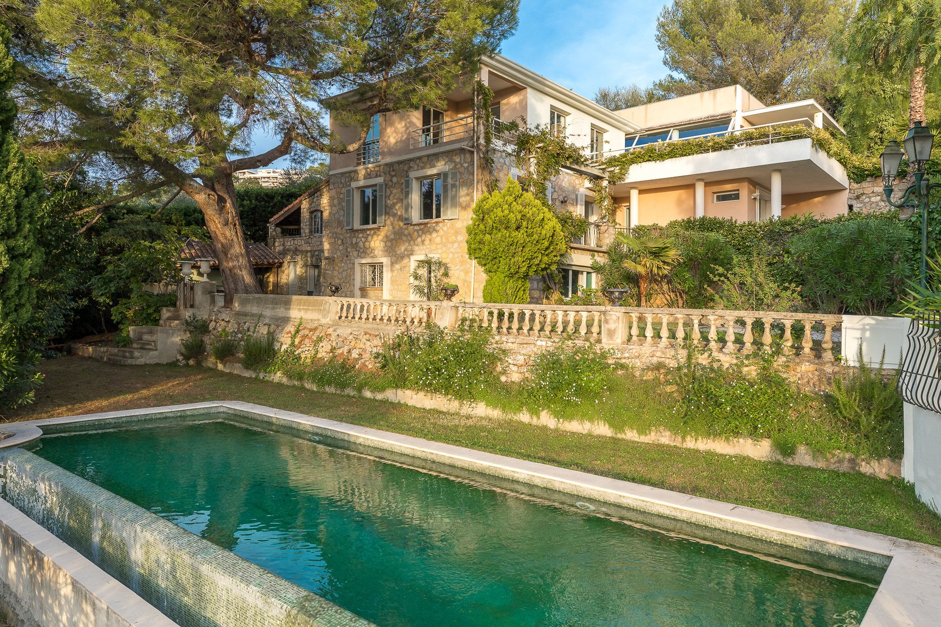
[{"label": "whole multi-storey villa with stone walls and modern white-balconied wing", "polygon": [[[479,79],[494,92],[493,118],[550,125],[595,163],[654,142],[768,129],[766,141],[633,165],[625,180],[583,166],[550,181],[555,208],[593,223],[561,267],[566,296],[592,286],[592,257],[605,254],[617,229],[699,215],[745,221],[853,209],[845,169],[809,137],[770,141],[783,124],[841,132],[813,100],[764,106],[742,86],[728,86],[615,112],[500,55],[484,59]],[[473,82],[456,87],[443,110],[377,115],[359,151],[330,155],[327,180],[271,219],[269,245],[284,263],[269,274],[267,290],[320,295],[332,283],[343,296],[407,300],[415,262],[431,256],[449,265],[458,300],[481,300],[486,277],[465,245],[471,209],[486,192]],[[345,141],[359,137],[332,120],[331,130]],[[518,174],[512,141],[490,146],[498,182]],[[596,212],[589,183],[601,179],[614,197],[614,224]],[[536,281],[533,288],[538,300]]]}]

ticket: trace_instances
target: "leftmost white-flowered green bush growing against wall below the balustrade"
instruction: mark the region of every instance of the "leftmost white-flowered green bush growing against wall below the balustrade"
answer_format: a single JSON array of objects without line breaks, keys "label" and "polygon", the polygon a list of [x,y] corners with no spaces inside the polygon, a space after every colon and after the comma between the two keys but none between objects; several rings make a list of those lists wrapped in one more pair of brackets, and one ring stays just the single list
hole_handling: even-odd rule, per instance
[{"label": "leftmost white-flowered green bush growing against wall below the balustrade", "polygon": [[487,329],[445,331],[429,324],[420,334],[399,333],[375,355],[396,387],[473,400],[499,383],[504,353],[490,343]]}]

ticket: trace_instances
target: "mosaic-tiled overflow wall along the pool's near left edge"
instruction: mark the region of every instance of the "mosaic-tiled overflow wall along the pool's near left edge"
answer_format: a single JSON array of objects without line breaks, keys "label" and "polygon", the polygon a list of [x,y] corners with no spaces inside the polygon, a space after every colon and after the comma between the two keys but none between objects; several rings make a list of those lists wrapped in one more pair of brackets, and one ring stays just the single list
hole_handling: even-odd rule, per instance
[{"label": "mosaic-tiled overflow wall along the pool's near left edge", "polygon": [[182,627],[370,627],[23,449],[0,456],[10,504]]}]

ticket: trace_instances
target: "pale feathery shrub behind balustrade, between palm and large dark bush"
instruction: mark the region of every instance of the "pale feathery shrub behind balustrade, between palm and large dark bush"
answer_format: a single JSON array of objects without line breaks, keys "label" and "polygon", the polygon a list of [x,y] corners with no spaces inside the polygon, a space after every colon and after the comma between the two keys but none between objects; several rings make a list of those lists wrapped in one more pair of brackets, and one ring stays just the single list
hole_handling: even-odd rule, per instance
[{"label": "pale feathery shrub behind balustrade, between palm and large dark bush", "polygon": [[768,268],[767,256],[738,256],[730,269],[712,274],[716,304],[738,311],[790,311],[801,302],[800,288],[778,284]]}]

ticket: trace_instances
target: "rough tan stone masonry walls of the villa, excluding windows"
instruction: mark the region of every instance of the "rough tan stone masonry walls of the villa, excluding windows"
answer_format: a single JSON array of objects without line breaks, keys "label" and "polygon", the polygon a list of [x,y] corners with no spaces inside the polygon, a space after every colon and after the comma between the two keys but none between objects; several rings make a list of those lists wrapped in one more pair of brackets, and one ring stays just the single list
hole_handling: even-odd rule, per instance
[{"label": "rough tan stone masonry walls of the villa, excluding windows", "polygon": [[[414,263],[429,255],[448,264],[449,281],[459,290],[457,300],[482,301],[486,274],[467,256],[467,227],[476,198],[486,193],[490,178],[480,160],[474,157],[474,149],[469,146],[451,146],[401,161],[363,165],[331,175],[327,185],[301,201],[300,236],[281,237],[279,229],[272,228],[269,244],[281,255],[284,264],[279,273],[272,276],[267,290],[279,294],[321,295],[327,293],[325,286],[332,283],[340,286],[341,296],[409,300],[414,298],[409,278]],[[494,150],[493,157],[493,180],[502,186],[516,173],[513,156]],[[456,172],[459,176],[456,217],[407,223],[404,215],[406,180],[442,170]],[[587,180],[584,173],[568,170],[555,177],[551,187],[552,204],[578,211],[577,198]],[[347,228],[345,191],[358,189],[363,181],[385,184],[384,224]],[[320,235],[311,234],[314,211],[323,215],[323,234]],[[589,250],[603,254],[600,248],[573,245],[571,255],[563,259],[563,263],[571,264],[574,259],[582,267],[590,265]],[[383,289],[359,287],[357,273],[361,263],[383,264]],[[311,277],[317,272],[319,284]],[[541,282],[535,280],[533,284],[531,297],[534,302],[541,302]]]}]

